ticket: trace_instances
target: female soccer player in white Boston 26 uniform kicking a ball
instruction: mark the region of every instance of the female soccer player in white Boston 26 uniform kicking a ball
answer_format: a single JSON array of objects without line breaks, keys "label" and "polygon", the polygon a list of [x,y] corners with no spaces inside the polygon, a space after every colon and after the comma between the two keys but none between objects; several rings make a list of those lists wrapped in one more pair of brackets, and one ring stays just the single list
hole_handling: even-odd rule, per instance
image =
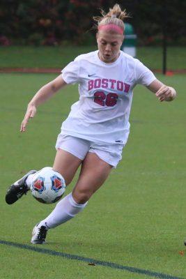
[{"label": "female soccer player in white Boston 26 uniform kicking a ball", "polygon": [[[79,179],[72,193],[61,199],[52,213],[33,228],[31,243],[45,243],[47,231],[73,218],[86,206],[88,199],[102,186],[111,169],[121,160],[129,135],[132,91],[143,84],[162,101],[171,101],[176,91],[162,84],[139,60],[120,50],[127,17],[116,4],[109,13],[97,17],[98,50],[77,56],[62,74],[36,93],[29,103],[21,124],[26,130],[36,108],[66,84],[79,84],[79,101],[72,105],[62,123],[56,141],[53,169],[72,181],[81,165]],[[31,186],[31,171],[10,186],[6,202],[13,204]]]}]

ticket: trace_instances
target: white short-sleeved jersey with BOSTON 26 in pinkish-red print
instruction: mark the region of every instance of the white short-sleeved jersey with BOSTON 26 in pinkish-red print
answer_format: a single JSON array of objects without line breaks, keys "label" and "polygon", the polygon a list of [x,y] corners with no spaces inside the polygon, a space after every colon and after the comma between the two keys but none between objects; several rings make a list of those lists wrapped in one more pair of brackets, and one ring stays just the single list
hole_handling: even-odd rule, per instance
[{"label": "white short-sleeved jersey with BOSTON 26 in pinkish-red print", "polygon": [[67,84],[79,83],[80,96],[62,123],[61,134],[125,145],[132,91],[136,84],[148,86],[153,82],[153,73],[122,51],[116,61],[104,63],[98,50],[77,56],[61,72]]}]

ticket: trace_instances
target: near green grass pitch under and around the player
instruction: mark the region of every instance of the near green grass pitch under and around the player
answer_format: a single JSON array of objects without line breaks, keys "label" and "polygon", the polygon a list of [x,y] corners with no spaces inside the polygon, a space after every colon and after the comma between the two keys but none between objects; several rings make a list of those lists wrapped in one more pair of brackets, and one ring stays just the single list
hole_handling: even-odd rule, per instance
[{"label": "near green grass pitch under and around the player", "polygon": [[[78,99],[77,86],[65,88],[39,107],[26,133],[20,134],[19,129],[33,93],[54,77],[0,76],[1,241],[31,246],[33,226],[54,208],[54,204],[38,203],[30,193],[12,206],[4,201],[6,188],[24,172],[53,163],[56,136],[70,105]],[[134,90],[131,133],[123,160],[84,212],[49,231],[48,243],[39,246],[133,267],[134,272],[0,243],[0,278],[186,278],[185,76],[158,77],[176,88],[178,98],[160,103],[144,87]],[[157,276],[141,270],[157,272]]]}]

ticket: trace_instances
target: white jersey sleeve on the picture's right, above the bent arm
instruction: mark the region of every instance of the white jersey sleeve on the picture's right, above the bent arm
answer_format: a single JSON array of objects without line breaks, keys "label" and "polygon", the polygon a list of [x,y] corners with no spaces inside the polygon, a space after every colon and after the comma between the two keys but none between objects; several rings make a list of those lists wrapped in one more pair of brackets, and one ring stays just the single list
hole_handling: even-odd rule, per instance
[{"label": "white jersey sleeve on the picture's right, above the bent arm", "polygon": [[155,75],[143,63],[136,59],[135,65],[136,83],[143,84],[144,86],[150,85],[151,82],[156,80]]}]

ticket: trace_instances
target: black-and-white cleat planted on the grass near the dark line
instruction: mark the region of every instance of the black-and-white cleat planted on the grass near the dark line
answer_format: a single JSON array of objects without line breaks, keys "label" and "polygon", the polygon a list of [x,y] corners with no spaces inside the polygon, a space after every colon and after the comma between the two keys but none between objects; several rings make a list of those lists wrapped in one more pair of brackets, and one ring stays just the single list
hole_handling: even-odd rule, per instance
[{"label": "black-and-white cleat planted on the grass near the dark line", "polygon": [[43,225],[40,226],[40,223],[38,223],[33,228],[31,243],[44,244],[44,243],[46,243],[46,241],[45,241],[46,236],[47,236],[47,227],[45,227]]}]

